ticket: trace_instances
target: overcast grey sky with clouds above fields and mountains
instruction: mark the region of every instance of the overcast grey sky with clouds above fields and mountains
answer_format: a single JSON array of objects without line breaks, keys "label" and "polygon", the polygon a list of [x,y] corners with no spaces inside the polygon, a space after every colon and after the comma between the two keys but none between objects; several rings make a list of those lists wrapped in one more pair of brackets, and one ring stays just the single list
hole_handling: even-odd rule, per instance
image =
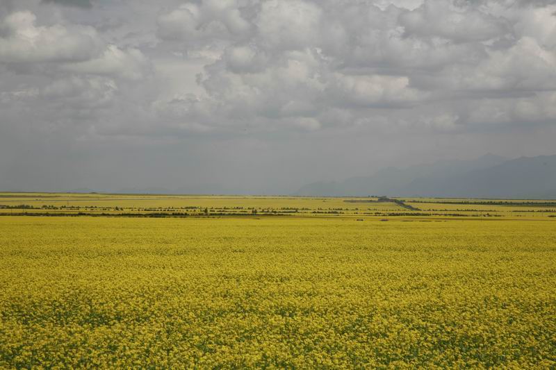
[{"label": "overcast grey sky with clouds above fields and mountains", "polygon": [[556,1],[0,0],[0,190],[291,194],[555,141]]}]

